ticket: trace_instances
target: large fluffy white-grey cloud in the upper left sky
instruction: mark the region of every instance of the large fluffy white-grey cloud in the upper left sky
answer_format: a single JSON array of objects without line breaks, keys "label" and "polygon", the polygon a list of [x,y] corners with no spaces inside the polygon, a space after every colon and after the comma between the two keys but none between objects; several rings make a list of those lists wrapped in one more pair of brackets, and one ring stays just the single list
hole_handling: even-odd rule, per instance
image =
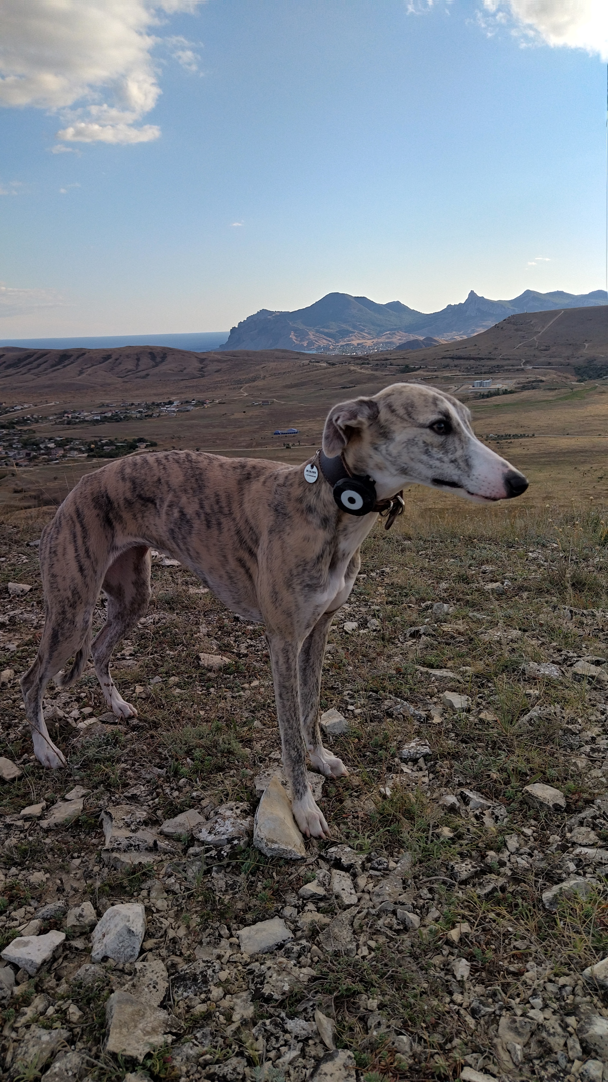
[{"label": "large fluffy white-grey cloud in the upper left sky", "polygon": [[[166,15],[193,13],[202,2],[0,0],[0,105],[58,113],[62,142],[158,138],[156,124],[137,127],[161,93],[153,50],[162,39],[153,31]],[[171,42],[174,58],[195,70],[191,42]]]}]

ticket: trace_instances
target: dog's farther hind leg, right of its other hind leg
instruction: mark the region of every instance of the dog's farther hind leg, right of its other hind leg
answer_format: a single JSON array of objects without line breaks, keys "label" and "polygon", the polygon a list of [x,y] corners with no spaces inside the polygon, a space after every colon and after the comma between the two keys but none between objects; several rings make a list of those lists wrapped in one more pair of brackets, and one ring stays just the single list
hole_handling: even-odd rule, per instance
[{"label": "dog's farther hind leg, right of its other hind leg", "polygon": [[106,622],[91,647],[95,673],[104,698],[117,717],[136,717],[137,711],[119,694],[109,672],[116,644],[144,616],[150,599],[150,550],[128,549],[106,571],[102,589],[107,595]]}]

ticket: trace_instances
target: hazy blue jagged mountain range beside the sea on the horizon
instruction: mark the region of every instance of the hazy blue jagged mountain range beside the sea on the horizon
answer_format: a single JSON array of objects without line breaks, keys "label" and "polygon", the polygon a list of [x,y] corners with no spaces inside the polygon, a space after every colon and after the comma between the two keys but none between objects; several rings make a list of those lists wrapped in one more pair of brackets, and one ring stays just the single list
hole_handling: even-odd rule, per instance
[{"label": "hazy blue jagged mountain range beside the sea on the horizon", "polygon": [[262,308],[233,327],[220,349],[298,349],[305,353],[361,354],[427,345],[478,334],[507,316],[524,312],[595,307],[606,304],[603,289],[592,293],[537,293],[527,289],[512,301],[491,301],[471,290],[466,301],[440,312],[417,312],[400,301],[376,304],[367,296],[328,293],[295,312]]}]

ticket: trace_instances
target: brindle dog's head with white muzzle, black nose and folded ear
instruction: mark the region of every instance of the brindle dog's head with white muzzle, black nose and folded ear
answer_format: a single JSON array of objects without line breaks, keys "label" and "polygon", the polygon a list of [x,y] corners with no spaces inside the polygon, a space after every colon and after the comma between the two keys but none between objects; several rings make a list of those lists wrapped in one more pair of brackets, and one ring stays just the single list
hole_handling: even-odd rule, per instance
[{"label": "brindle dog's head with white muzzle, black nose and folded ear", "polygon": [[344,452],[348,469],[369,474],[380,498],[414,481],[477,503],[508,500],[528,488],[524,474],[481,444],[458,398],[412,383],[393,383],[372,398],[330,410],[323,451]]}]

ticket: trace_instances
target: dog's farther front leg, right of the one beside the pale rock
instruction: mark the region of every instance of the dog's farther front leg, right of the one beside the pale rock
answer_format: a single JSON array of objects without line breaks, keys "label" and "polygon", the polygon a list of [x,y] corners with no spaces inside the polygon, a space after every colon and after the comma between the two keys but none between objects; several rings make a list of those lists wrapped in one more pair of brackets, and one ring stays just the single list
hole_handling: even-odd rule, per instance
[{"label": "dog's farther front leg, right of the one beside the pale rock", "polygon": [[348,770],[341,758],[323,748],[319,729],[321,669],[333,612],[323,612],[300,650],[300,710],[306,751],[315,770],[327,778],[341,778]]}]

